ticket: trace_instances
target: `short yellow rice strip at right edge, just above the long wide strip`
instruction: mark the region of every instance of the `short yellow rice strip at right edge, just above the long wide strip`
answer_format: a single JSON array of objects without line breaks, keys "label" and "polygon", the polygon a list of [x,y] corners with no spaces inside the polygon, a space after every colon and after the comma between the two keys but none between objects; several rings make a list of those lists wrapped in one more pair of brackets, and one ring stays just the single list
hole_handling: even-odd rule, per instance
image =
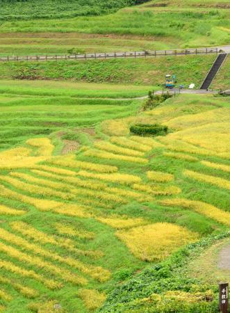
[{"label": "short yellow rice strip at right edge, just above the long wide strip", "polygon": [[186,175],[186,177],[198,180],[199,182],[206,182],[207,184],[212,184],[214,186],[230,190],[230,181],[227,179],[193,172],[192,170],[185,170],[183,174]]}]

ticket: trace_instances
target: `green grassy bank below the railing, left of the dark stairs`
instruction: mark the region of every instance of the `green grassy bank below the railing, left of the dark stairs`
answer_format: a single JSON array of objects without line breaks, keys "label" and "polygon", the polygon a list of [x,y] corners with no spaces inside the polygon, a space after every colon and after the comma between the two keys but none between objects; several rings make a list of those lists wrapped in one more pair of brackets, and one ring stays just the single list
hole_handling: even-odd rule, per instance
[{"label": "green grassy bank below the railing, left of the dark stairs", "polygon": [[162,86],[165,74],[176,74],[178,85],[199,88],[215,55],[130,58],[47,63],[1,63],[1,79],[65,79],[93,83]]}]

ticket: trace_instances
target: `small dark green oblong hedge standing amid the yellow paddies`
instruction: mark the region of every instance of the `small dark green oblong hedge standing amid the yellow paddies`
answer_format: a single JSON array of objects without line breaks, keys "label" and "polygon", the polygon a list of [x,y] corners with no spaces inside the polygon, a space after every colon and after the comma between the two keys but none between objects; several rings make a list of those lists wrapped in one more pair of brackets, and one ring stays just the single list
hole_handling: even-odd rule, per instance
[{"label": "small dark green oblong hedge standing amid the yellow paddies", "polygon": [[165,135],[167,134],[168,127],[165,125],[158,124],[136,124],[130,127],[130,131],[133,134],[144,136],[144,135]]}]

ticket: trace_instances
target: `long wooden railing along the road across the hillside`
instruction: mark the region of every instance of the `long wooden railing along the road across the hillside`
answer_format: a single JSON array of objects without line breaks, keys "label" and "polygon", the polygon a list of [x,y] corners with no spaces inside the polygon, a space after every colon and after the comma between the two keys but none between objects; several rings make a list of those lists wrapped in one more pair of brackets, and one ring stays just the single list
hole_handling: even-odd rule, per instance
[{"label": "long wooden railing along the road across the hillside", "polygon": [[175,50],[156,50],[156,51],[134,51],[134,52],[113,52],[95,54],[56,54],[56,55],[37,55],[37,56],[0,56],[0,61],[60,61],[60,60],[88,60],[102,58],[141,58],[157,56],[187,56],[194,54],[217,54],[218,48],[195,48],[195,49],[175,49]]}]

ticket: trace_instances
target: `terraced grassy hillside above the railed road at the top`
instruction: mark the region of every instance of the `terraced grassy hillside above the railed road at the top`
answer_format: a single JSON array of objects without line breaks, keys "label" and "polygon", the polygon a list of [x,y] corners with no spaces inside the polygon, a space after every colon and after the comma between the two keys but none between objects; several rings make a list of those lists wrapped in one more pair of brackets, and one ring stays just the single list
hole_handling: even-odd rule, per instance
[{"label": "terraced grassy hillside above the railed road at the top", "polygon": [[[11,7],[14,10],[14,6],[17,4],[11,3],[8,10]],[[167,6],[162,1],[149,1],[106,16],[3,22],[0,53],[55,54],[66,53],[70,48],[92,52],[226,45],[229,43],[227,6],[227,1],[218,5],[216,1],[171,0]],[[97,34],[96,40],[90,34]],[[143,35],[147,37],[140,38]]]}]

